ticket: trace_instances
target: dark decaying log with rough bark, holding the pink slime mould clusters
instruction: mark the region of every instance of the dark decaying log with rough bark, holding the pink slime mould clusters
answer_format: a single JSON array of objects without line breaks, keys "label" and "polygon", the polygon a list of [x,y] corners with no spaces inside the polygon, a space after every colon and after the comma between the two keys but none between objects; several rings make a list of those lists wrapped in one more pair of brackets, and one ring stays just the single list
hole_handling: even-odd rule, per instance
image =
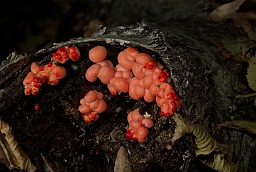
[{"label": "dark decaying log with rough bark, holding the pink slime mould clusters", "polygon": [[[191,25],[195,27],[190,27]],[[127,94],[111,97],[106,85],[90,83],[84,74],[92,64],[88,51],[97,45],[108,50],[108,58],[117,63],[117,55],[127,46],[149,53],[170,73],[171,84],[183,102],[178,112],[183,118],[203,125],[218,142],[228,145],[228,156],[238,171],[253,171],[255,139],[242,131],[218,129],[217,124],[232,119],[255,120],[252,101],[237,103],[235,96],[251,90],[231,66],[220,59],[221,35],[233,37],[228,26],[202,23],[138,23],[131,26],[99,28],[91,37],[57,43],[35,54],[12,53],[1,64],[0,114],[12,127],[22,150],[39,170],[42,164],[54,171],[113,171],[120,146],[128,150],[134,171],[205,171],[198,161],[193,136],[188,134],[170,144],[175,122],[159,115],[155,103],[132,100]],[[57,48],[76,45],[81,57],[63,66],[67,75],[56,86],[44,85],[38,95],[24,94],[23,79],[32,62],[44,65]],[[240,66],[239,66],[240,65]],[[104,93],[108,109],[98,121],[85,124],[78,111],[79,100],[91,89]],[[39,104],[39,110],[34,105]],[[134,108],[149,112],[155,120],[148,141],[125,139],[126,116]],[[1,167],[4,168],[4,167]],[[46,168],[46,167],[45,167]]]}]

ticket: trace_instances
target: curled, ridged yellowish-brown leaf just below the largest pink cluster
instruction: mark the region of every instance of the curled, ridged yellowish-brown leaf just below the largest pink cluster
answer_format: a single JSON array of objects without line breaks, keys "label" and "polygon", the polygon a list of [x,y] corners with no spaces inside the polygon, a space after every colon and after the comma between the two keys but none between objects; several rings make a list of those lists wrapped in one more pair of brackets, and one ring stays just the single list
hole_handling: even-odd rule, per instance
[{"label": "curled, ridged yellowish-brown leaf just below the largest pink cluster", "polygon": [[195,153],[199,155],[213,154],[214,158],[207,161],[201,160],[214,170],[220,172],[233,172],[237,171],[237,166],[229,161],[226,157],[227,146],[218,143],[201,125],[193,124],[192,122],[182,118],[179,114],[174,114],[174,121],[176,122],[176,128],[171,139],[174,143],[177,139],[185,134],[191,133],[195,136]]}]

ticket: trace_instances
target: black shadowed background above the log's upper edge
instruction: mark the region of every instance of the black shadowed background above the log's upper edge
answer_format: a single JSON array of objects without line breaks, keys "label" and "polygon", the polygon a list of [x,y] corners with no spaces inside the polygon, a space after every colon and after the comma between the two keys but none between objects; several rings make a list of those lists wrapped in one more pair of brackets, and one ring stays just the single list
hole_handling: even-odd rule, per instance
[{"label": "black shadowed background above the log's upper edge", "polygon": [[0,5],[0,60],[82,37],[95,19],[105,26],[183,21],[213,8],[211,0],[9,0]]}]

